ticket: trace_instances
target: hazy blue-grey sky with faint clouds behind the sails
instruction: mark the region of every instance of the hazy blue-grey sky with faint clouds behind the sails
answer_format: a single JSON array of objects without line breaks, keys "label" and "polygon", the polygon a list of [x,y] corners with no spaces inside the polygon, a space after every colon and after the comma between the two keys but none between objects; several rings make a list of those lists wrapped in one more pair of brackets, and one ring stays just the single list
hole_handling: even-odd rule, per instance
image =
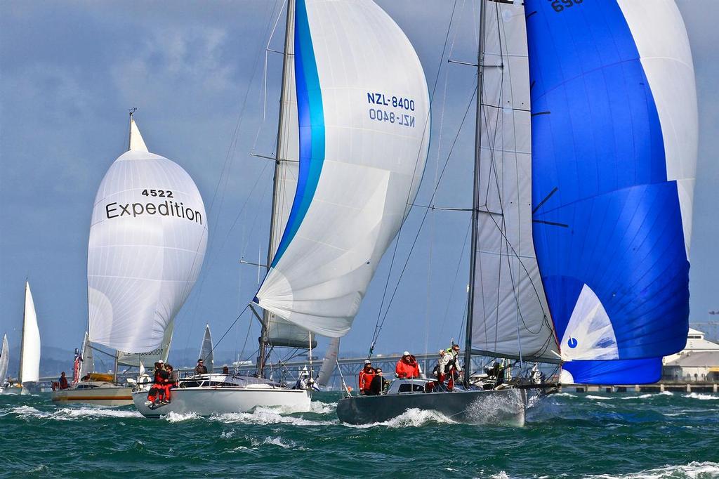
[{"label": "hazy blue-grey sky with faint clouds behind the sails", "polygon": [[[416,204],[429,204],[446,162],[433,204],[467,208],[473,114],[460,124],[476,72],[446,60],[476,58],[477,2],[377,3],[416,48],[433,98]],[[690,321],[719,321],[708,314],[719,310],[719,2],[677,4],[692,45],[700,116]],[[137,107],[147,147],[188,171],[209,215],[205,263],[178,314],[173,347],[199,348],[209,323],[216,339],[226,333],[219,350],[252,357],[259,326],[248,314],[237,316],[260,272],[240,260],[263,262],[267,254],[272,163],[251,153],[274,153],[282,57],[266,48],[283,47],[281,9],[275,0],[0,2],[0,334],[12,345],[22,328],[25,278],[43,345],[80,345],[93,200],[127,146],[127,110]],[[420,229],[423,214],[413,209],[385,255],[342,355],[366,354],[385,311],[375,352],[426,352],[459,339],[470,216],[431,211]]]}]

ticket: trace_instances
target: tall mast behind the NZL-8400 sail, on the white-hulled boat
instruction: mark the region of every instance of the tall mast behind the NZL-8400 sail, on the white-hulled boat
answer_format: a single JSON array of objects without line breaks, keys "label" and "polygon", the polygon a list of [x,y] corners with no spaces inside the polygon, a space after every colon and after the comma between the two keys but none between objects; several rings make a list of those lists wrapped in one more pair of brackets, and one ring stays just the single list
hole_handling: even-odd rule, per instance
[{"label": "tall mast behind the NZL-8400 sail, on the white-hulled boat", "polygon": [[[294,41],[294,22],[295,22],[295,0],[288,0],[287,2],[287,21],[285,23],[285,50],[284,59],[282,65],[282,88],[280,91],[280,119],[278,121],[277,131],[277,147],[275,148],[275,173],[273,175],[273,194],[272,194],[272,214],[270,216],[270,242],[267,245],[267,269],[272,264],[275,251],[273,248],[275,242],[275,216],[276,209],[278,208],[278,188],[280,184],[280,162],[286,160],[283,158],[283,151],[285,147],[285,129],[286,129],[286,118],[285,118],[285,107],[287,99],[288,89],[290,88],[290,49],[292,48]],[[270,324],[270,313],[267,311],[262,312],[262,335],[260,336],[260,351],[257,355],[257,375],[262,378],[265,373],[265,347],[267,345],[268,327]]]}]

